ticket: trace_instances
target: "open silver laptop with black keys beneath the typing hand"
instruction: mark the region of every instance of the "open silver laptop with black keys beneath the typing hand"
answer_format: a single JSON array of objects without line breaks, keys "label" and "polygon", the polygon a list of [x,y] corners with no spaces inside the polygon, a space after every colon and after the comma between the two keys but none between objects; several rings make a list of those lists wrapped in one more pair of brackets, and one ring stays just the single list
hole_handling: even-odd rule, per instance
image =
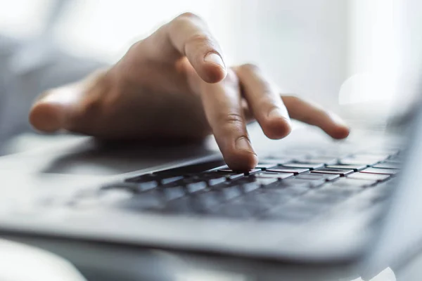
[{"label": "open silver laptop with black keys beneath the typing hand", "polygon": [[229,169],[212,141],[134,148],[76,137],[2,157],[0,235],[342,264],[368,276],[421,250],[421,110],[346,141],[309,126],[282,141],[251,135],[261,155],[251,171]]}]

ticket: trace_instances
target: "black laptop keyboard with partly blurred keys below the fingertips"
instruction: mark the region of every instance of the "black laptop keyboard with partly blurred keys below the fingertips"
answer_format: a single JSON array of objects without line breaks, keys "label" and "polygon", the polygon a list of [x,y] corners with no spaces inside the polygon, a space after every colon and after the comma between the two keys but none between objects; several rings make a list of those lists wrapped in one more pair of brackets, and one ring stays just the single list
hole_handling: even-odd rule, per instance
[{"label": "black laptop keyboard with partly blurred keys below the fingertips", "polygon": [[[217,166],[198,172],[177,168],[142,174],[103,186],[94,195],[76,195],[69,204],[84,207],[94,202],[169,216],[301,223],[365,192],[371,195],[365,197],[369,207],[382,202],[388,197],[385,182],[395,177],[400,166],[399,151],[394,149],[354,154],[309,155],[308,151],[264,157],[248,172]],[[356,208],[362,209],[363,203],[358,203]]]}]

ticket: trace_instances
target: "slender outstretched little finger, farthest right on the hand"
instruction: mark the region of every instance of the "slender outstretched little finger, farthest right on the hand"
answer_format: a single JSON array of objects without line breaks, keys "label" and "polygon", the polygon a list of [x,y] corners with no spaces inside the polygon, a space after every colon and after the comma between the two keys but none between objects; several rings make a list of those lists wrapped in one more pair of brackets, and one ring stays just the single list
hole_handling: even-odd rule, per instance
[{"label": "slender outstretched little finger, farthest right on the hand", "polygon": [[349,135],[349,127],[333,112],[295,96],[283,96],[282,99],[293,119],[319,126],[333,138],[346,138]]}]

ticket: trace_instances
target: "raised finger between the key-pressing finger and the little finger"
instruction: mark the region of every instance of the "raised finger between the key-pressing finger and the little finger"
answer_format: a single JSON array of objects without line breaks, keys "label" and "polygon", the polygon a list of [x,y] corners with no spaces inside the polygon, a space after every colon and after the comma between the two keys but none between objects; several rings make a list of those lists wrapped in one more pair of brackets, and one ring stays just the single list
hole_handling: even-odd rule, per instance
[{"label": "raised finger between the key-pressing finger and the little finger", "polygon": [[265,135],[272,139],[287,136],[291,131],[290,117],[279,92],[255,65],[242,65],[236,70],[243,95]]}]

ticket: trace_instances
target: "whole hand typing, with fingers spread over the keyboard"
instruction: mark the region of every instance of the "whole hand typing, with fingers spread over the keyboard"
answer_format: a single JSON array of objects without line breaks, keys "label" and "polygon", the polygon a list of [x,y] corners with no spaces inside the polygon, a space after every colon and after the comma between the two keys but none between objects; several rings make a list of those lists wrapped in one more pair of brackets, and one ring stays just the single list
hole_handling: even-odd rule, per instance
[{"label": "whole hand typing, with fingers spread over the keyboard", "polygon": [[231,169],[257,164],[246,130],[253,118],[272,139],[290,117],[333,138],[349,129],[337,116],[281,96],[254,65],[226,67],[205,22],[185,13],[137,42],[107,70],[41,95],[30,112],[39,131],[60,129],[108,139],[204,138],[213,133]]}]

